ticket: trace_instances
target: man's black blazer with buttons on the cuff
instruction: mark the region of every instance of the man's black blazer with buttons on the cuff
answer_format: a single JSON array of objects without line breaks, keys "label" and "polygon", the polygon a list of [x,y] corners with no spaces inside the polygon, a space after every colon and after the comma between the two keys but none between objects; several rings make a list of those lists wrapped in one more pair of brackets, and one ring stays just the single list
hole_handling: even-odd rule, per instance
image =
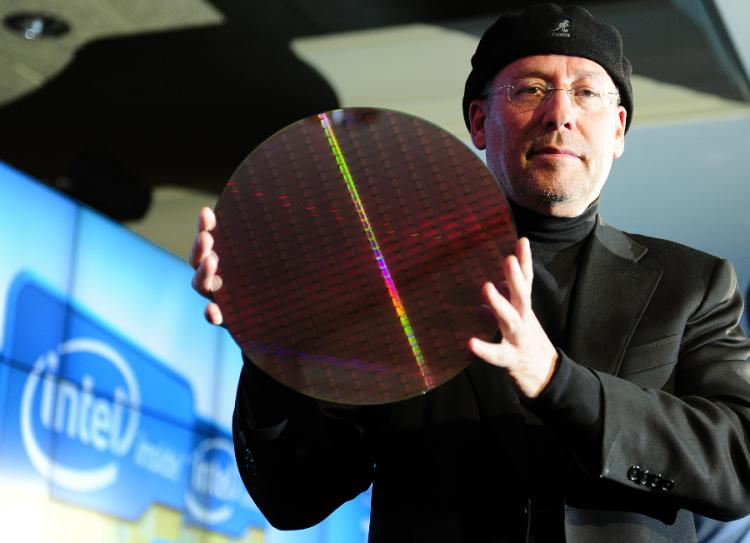
[{"label": "man's black blazer with buttons on the cuff", "polygon": [[246,363],[240,472],[268,520],[290,529],[373,483],[371,542],[523,541],[529,496],[564,508],[567,541],[694,541],[687,510],[750,514],[741,315],[726,261],[600,223],[563,353],[600,383],[595,435],[569,423],[588,399],[562,397],[540,414],[553,442],[532,450],[534,415],[504,370],[480,361],[422,397],[361,408],[303,397]]}]

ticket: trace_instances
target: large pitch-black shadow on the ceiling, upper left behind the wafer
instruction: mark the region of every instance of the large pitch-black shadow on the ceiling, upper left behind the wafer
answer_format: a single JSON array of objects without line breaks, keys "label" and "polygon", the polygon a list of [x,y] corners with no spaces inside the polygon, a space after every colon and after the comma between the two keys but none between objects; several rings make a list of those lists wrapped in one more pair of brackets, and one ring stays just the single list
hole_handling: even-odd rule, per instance
[{"label": "large pitch-black shadow on the ceiling, upper left behind the wafer", "polygon": [[265,138],[338,106],[291,37],[230,23],[89,43],[0,108],[0,159],[119,220],[154,185],[218,194]]}]

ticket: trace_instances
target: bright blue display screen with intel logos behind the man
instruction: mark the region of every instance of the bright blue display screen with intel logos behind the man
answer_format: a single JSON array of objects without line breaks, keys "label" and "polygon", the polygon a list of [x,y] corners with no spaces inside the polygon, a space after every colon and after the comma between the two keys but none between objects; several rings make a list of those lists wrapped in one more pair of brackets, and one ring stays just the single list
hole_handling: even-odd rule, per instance
[{"label": "bright blue display screen with intel logos behind the man", "polygon": [[230,425],[242,360],[203,320],[186,263],[2,163],[0,213],[4,533],[366,540],[369,494],[278,532],[245,491]]}]

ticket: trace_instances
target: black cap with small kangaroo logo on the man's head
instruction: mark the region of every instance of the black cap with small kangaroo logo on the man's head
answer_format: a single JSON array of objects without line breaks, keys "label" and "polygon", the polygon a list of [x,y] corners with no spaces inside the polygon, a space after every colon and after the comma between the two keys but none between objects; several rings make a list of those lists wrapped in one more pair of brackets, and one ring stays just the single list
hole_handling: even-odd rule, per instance
[{"label": "black cap with small kangaroo logo on the man's head", "polygon": [[593,60],[606,70],[628,112],[625,131],[633,119],[632,67],[622,52],[617,29],[594,19],[580,6],[542,4],[504,14],[479,40],[471,57],[471,73],[464,88],[463,110],[469,128],[469,104],[478,98],[490,78],[519,58],[531,55],[567,55]]}]

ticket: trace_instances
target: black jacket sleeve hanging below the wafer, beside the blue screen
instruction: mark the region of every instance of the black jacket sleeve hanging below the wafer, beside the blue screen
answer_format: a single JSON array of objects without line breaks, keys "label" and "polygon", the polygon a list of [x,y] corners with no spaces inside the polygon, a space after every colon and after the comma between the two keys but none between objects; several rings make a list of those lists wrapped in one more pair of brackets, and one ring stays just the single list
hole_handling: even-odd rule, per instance
[{"label": "black jacket sleeve hanging below the wafer, beside the blue screen", "polygon": [[274,527],[313,526],[369,487],[362,414],[299,394],[245,359],[233,416],[237,465]]}]

